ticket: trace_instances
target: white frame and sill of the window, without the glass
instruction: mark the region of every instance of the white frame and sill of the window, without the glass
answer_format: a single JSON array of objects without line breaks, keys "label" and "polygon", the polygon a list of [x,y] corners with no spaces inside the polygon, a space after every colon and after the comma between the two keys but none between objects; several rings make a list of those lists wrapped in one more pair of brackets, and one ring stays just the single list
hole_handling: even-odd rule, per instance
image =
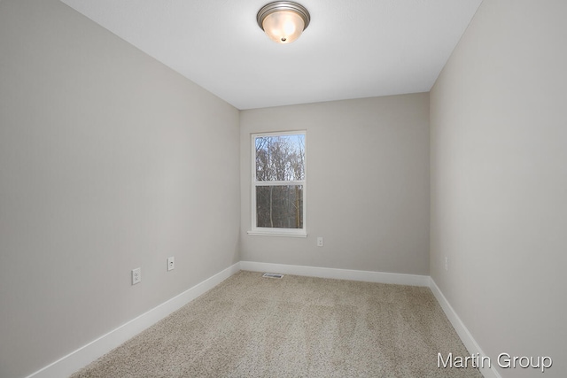
[{"label": "white frame and sill of the window, without the glass", "polygon": [[[280,136],[280,135],[303,135],[305,140],[305,157],[303,160],[304,180],[293,181],[256,181],[256,138],[263,136]],[[252,230],[248,231],[248,235],[268,235],[268,236],[291,236],[291,237],[307,237],[307,131],[281,131],[270,133],[257,133],[251,135],[252,142]],[[284,185],[301,185],[303,186],[303,228],[259,228],[257,227],[257,209],[256,209],[256,188],[259,186],[284,186]]]}]

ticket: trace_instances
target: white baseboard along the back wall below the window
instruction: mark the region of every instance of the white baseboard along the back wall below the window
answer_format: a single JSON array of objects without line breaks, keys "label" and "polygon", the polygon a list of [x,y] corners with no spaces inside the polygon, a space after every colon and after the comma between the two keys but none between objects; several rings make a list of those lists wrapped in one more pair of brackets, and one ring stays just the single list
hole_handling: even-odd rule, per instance
[{"label": "white baseboard along the back wall below the window", "polygon": [[240,261],[240,269],[252,272],[307,275],[309,277],[338,280],[392,283],[396,285],[429,286],[429,275],[369,272],[364,270],[337,269],[316,266],[292,266],[285,264]]}]

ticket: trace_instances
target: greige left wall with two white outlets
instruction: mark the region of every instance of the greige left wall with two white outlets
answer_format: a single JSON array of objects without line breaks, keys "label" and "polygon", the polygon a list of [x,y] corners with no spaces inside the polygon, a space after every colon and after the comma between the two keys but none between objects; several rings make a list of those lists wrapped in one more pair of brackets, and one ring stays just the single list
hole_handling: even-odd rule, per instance
[{"label": "greige left wall with two white outlets", "polygon": [[238,112],[56,0],[0,3],[0,51],[0,376],[21,377],[239,260]]}]

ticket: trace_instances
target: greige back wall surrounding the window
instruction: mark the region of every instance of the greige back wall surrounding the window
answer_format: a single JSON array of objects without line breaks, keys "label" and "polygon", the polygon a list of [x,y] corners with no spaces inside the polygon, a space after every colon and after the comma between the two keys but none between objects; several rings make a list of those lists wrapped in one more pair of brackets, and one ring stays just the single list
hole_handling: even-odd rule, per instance
[{"label": "greige back wall surrounding the window", "polygon": [[[242,260],[429,274],[428,94],[247,110],[240,127]],[[307,238],[248,235],[251,135],[288,130],[307,131]]]}]

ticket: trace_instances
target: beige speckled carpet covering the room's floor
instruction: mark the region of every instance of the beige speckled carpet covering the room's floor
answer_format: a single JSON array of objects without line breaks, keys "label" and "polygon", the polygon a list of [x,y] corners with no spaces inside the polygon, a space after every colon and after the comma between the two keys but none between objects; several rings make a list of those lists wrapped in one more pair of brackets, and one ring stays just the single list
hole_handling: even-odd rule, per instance
[{"label": "beige speckled carpet covering the room's floor", "polygon": [[239,272],[72,375],[482,377],[428,288]]}]

